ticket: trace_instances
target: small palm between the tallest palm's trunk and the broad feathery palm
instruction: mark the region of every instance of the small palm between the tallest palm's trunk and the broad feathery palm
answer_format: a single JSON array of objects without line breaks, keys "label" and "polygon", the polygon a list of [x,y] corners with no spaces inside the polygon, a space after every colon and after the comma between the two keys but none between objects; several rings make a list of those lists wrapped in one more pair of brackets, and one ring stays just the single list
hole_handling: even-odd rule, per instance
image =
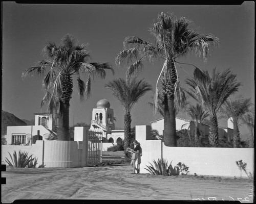
[{"label": "small palm between the tallest palm's trunk and the broad feathery palm", "polygon": [[199,125],[202,123],[202,121],[209,116],[208,112],[204,110],[202,105],[197,104],[196,106],[189,105],[187,108],[187,113],[190,115],[192,120],[195,122],[195,145],[199,145],[199,137],[200,137],[200,131],[199,131]]}]

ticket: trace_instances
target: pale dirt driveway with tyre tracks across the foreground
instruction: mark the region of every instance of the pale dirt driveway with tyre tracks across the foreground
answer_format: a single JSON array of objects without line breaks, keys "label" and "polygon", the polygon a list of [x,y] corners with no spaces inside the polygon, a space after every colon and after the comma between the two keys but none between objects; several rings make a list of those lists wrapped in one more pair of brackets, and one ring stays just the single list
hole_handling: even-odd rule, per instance
[{"label": "pale dirt driveway with tyre tracks across the foreground", "polygon": [[253,181],[210,176],[132,174],[129,165],[7,168],[2,203],[15,199],[214,199],[253,202]]}]

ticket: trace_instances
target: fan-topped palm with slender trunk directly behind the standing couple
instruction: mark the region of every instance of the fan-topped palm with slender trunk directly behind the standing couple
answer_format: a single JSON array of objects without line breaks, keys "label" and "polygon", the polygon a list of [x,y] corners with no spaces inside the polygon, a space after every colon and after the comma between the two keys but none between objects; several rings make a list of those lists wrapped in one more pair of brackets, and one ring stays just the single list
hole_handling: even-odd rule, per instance
[{"label": "fan-topped palm with slender trunk directly behind the standing couple", "polygon": [[131,110],[138,100],[147,92],[152,90],[150,84],[144,80],[116,79],[105,85],[112,90],[113,95],[119,100],[125,111],[124,114],[124,152],[131,142]]}]

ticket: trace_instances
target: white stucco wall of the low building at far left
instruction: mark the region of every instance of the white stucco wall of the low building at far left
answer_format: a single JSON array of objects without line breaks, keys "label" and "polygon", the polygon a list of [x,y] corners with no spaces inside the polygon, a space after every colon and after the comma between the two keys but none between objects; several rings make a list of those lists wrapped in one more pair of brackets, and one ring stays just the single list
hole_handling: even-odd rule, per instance
[{"label": "white stucco wall of the low building at far left", "polygon": [[[42,125],[24,125],[24,126],[7,126],[7,134],[6,134],[6,141],[7,144],[12,143],[12,134],[18,134],[18,135],[27,135],[26,137],[26,143],[28,143],[28,137],[30,140],[31,137],[31,130],[32,135],[37,135],[37,131],[40,131],[40,135],[43,136],[44,134],[49,133],[49,131]],[[44,137],[42,137],[42,140],[45,140]]]}]

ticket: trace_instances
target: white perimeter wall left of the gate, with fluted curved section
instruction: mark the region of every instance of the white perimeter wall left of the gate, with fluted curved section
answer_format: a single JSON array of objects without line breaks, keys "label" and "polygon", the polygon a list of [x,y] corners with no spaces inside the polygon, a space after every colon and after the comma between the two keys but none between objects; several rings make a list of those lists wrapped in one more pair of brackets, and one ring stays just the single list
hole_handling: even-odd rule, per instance
[{"label": "white perimeter wall left of the gate, with fluted curved section", "polygon": [[[29,156],[37,158],[38,165],[45,167],[84,167],[87,166],[86,142],[84,141],[44,141],[37,140],[32,146],[2,145],[1,163],[6,164],[5,157],[9,158],[14,150],[29,152]],[[38,166],[37,165],[37,166]],[[37,167],[36,166],[36,167]]]}]

